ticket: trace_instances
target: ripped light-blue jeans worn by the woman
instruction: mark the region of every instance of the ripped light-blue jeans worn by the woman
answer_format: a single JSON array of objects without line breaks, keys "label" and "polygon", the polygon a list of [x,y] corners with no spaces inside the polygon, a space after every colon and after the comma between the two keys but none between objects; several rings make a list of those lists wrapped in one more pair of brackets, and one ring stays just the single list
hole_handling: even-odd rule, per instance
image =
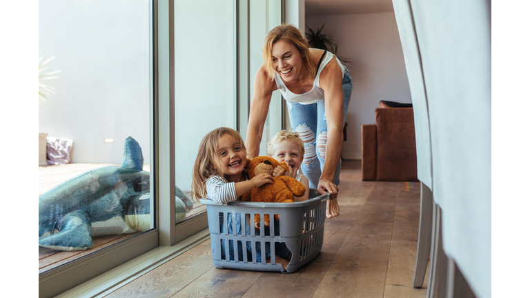
[{"label": "ripped light-blue jeans worn by the woman", "polygon": [[[350,103],[352,85],[353,81],[351,80],[350,73],[346,70],[342,79],[342,92],[344,92],[343,126]],[[324,101],[326,99],[308,105],[287,103],[291,126],[295,132],[298,132],[302,141],[304,141],[304,161],[302,161],[300,168],[302,168],[302,172],[308,178],[310,188],[317,188],[326,157],[328,123],[326,121]],[[342,161],[339,161],[333,179],[335,185],[339,185],[340,182],[339,174],[341,166]]]}]

